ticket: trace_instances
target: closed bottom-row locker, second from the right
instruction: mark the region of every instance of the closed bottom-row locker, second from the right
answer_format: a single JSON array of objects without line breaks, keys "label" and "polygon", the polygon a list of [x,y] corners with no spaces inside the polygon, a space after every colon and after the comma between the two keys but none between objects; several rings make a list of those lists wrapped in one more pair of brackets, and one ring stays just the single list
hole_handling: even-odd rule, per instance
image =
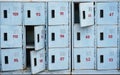
[{"label": "closed bottom-row locker, second from the right", "polygon": [[94,48],[74,48],[73,69],[94,69]]}]

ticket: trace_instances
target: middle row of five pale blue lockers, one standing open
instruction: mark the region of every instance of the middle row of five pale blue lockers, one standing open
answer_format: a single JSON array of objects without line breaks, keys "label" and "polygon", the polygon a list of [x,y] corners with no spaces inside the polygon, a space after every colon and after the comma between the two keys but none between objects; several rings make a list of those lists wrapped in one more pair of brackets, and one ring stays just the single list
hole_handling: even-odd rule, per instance
[{"label": "middle row of five pale blue lockers, one standing open", "polygon": [[[117,47],[118,40],[117,26],[94,26],[81,28],[79,25],[73,26],[73,47]],[[25,34],[23,35],[23,30]],[[96,35],[95,35],[96,32]],[[1,26],[1,48],[22,47],[23,37],[26,39],[26,48],[32,46],[36,50],[38,46],[44,48],[45,26]],[[69,27],[49,26],[48,27],[48,47],[69,47]]]}]

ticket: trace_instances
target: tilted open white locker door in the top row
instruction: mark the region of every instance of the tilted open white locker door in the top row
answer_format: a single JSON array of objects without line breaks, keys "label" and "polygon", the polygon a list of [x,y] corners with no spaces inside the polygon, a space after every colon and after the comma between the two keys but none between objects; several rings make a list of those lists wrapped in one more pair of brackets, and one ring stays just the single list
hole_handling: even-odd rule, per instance
[{"label": "tilted open white locker door in the top row", "polygon": [[80,26],[94,25],[94,7],[93,3],[80,3]]}]

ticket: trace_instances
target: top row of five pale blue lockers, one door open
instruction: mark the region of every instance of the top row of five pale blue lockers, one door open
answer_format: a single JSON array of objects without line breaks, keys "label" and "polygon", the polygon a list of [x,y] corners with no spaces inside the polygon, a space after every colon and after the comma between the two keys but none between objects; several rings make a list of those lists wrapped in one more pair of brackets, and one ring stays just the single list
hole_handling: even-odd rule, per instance
[{"label": "top row of five pale blue lockers, one door open", "polygon": [[[68,25],[71,9],[70,2],[1,2],[0,21],[1,25]],[[116,25],[119,22],[119,3],[75,2],[73,14],[74,23],[79,23],[81,27]]]}]

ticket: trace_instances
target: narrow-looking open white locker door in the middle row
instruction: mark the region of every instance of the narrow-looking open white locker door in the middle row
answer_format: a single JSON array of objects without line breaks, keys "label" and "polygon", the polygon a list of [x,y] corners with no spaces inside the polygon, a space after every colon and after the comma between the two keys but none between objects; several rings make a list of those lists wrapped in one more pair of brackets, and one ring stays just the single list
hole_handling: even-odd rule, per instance
[{"label": "narrow-looking open white locker door in the middle row", "polygon": [[35,26],[34,27],[34,41],[35,41],[35,50],[40,50],[44,48],[45,41],[45,30],[44,26]]}]

